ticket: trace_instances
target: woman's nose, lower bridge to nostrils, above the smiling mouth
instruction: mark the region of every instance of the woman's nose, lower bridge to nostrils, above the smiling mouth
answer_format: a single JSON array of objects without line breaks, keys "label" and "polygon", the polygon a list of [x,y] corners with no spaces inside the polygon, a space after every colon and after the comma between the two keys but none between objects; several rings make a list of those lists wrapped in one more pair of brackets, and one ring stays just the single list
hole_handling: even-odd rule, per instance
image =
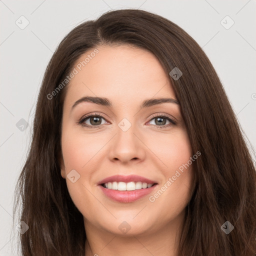
[{"label": "woman's nose, lower bridge to nostrils, above the smiling mouth", "polygon": [[128,163],[131,160],[143,161],[146,146],[139,134],[133,125],[126,131],[117,126],[116,134],[110,142],[108,154],[110,161],[120,161],[122,163]]}]

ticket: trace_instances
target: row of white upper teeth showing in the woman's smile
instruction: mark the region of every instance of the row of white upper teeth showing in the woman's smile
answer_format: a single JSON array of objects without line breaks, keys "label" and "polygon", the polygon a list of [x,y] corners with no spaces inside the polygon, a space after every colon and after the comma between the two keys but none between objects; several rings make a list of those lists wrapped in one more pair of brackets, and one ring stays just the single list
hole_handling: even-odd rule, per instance
[{"label": "row of white upper teeth showing in the woman's smile", "polygon": [[151,187],[153,184],[147,184],[145,182],[107,182],[104,183],[103,186],[108,189],[114,189],[114,190],[119,190],[119,191],[131,191],[135,189],[141,189],[141,188],[147,188]]}]

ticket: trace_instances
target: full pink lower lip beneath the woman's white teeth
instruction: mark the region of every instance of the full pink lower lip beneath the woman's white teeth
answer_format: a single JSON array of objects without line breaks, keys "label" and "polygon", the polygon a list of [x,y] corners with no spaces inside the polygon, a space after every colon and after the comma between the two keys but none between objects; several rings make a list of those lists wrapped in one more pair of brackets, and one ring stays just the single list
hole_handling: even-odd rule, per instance
[{"label": "full pink lower lip beneath the woman's white teeth", "polygon": [[118,202],[133,202],[135,200],[138,200],[139,198],[152,192],[156,186],[157,184],[148,188],[135,189],[131,191],[119,191],[105,188],[102,185],[99,185],[100,189],[106,196]]}]

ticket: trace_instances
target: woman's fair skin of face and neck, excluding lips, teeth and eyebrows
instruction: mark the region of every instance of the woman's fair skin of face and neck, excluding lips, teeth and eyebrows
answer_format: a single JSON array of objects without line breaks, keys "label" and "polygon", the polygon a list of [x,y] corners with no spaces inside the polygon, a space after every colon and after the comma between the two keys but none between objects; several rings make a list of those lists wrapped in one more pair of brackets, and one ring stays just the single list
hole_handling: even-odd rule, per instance
[{"label": "woman's fair skin of face and neck, excluding lips, teeth and eyebrows", "polygon": [[[189,160],[191,146],[178,104],[166,102],[142,109],[140,104],[148,98],[176,99],[175,93],[152,53],[130,45],[97,48],[99,52],[68,84],[61,128],[61,176],[83,215],[85,255],[174,256],[193,184],[192,165],[154,202],[148,198]],[[82,96],[106,97],[112,106],[82,102],[71,110]],[[98,121],[101,125],[93,126],[90,118],[84,122],[92,128],[77,124],[94,112],[103,115]],[[167,126],[170,122],[163,119],[166,127],[157,128],[161,124],[153,114],[166,114],[177,124]],[[123,118],[131,123],[125,132],[117,125]],[[72,169],[80,174],[74,183],[66,176]],[[158,185],[137,201],[113,201],[97,183],[115,174],[141,175]],[[123,221],[130,226],[126,233],[118,228]]]}]

